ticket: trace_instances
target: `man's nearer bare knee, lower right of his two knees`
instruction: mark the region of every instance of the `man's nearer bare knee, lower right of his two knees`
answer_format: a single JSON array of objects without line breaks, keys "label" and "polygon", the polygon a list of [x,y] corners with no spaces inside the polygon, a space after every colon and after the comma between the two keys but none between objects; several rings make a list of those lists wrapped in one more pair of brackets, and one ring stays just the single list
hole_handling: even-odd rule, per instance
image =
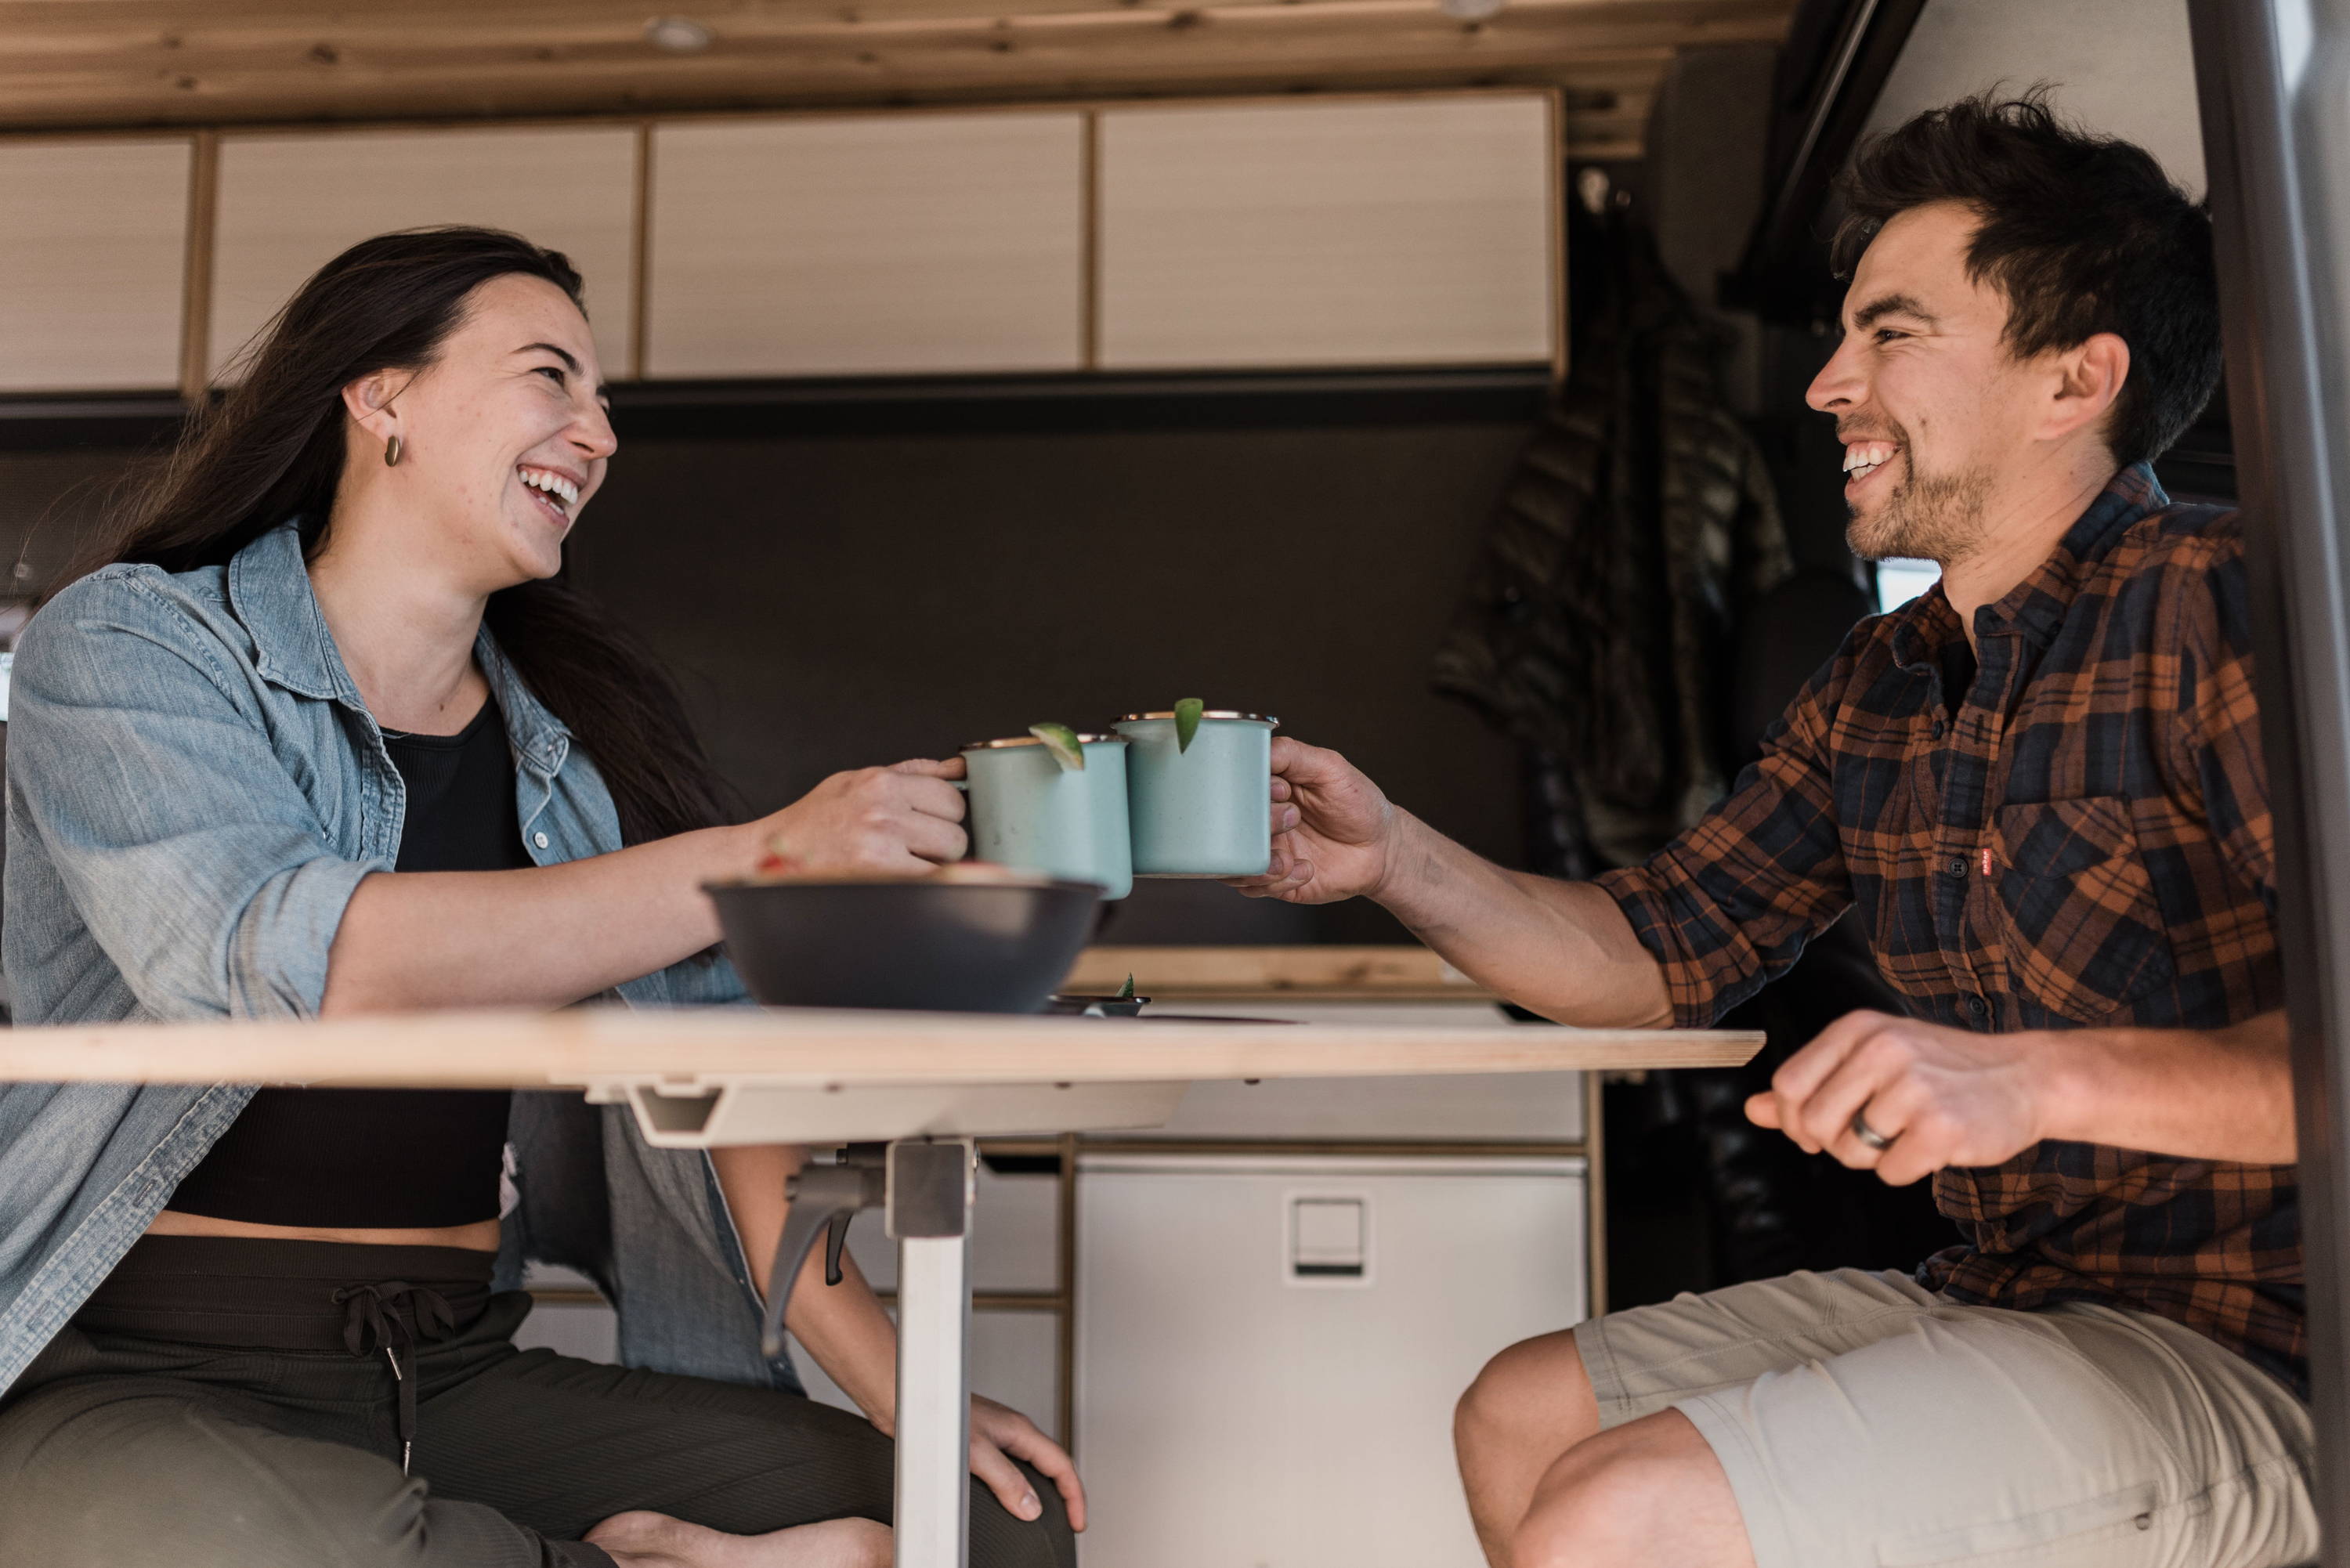
[{"label": "man's nearer bare knee, lower right of his two knees", "polygon": [[1680,1410],[1584,1439],[1535,1486],[1513,1568],[1753,1568],[1737,1493]]}]

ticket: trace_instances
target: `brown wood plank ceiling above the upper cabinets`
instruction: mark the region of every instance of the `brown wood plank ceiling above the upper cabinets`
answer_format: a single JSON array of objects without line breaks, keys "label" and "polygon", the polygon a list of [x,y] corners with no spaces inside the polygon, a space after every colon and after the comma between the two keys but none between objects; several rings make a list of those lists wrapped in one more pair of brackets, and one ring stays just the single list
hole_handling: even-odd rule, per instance
[{"label": "brown wood plank ceiling above the upper cabinets", "polygon": [[1793,0],[0,0],[0,125],[254,125],[815,103],[1570,87],[1582,158],[1638,158],[1673,49],[1777,42]]}]

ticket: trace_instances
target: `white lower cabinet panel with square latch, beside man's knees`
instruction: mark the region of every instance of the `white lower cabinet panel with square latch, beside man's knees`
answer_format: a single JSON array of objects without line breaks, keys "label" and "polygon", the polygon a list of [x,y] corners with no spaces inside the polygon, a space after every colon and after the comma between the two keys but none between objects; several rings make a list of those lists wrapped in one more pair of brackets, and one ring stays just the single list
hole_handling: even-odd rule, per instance
[{"label": "white lower cabinet panel with square latch, beside man's knees", "polygon": [[1478,1568],[1452,1406],[1495,1352],[1584,1316],[1584,1161],[1081,1171],[1086,1559]]}]

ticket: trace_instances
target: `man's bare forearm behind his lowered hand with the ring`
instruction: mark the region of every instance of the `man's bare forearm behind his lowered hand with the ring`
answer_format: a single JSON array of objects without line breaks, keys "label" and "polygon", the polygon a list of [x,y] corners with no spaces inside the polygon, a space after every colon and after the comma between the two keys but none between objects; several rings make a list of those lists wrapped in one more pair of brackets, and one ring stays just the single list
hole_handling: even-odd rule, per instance
[{"label": "man's bare forearm behind his lowered hand with the ring", "polygon": [[2284,1013],[2225,1030],[2059,1030],[2044,1135],[2183,1159],[2296,1159]]}]

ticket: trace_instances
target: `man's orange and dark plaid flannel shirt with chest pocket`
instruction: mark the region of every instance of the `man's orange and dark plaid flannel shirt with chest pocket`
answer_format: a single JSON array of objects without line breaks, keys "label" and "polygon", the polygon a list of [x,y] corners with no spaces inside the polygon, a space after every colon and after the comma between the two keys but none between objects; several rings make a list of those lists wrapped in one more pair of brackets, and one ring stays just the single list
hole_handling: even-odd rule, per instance
[{"label": "man's orange and dark plaid flannel shirt with chest pocket", "polygon": [[[1730,797],[1600,877],[1680,1025],[1751,997],[1854,910],[1915,1018],[2221,1027],[2282,1006],[2275,839],[2235,515],[2124,468],[1962,637],[1932,588],[1864,621]],[[1953,1300],[2181,1321],[2308,1396],[2291,1166],[2040,1143],[1950,1168]]]}]

